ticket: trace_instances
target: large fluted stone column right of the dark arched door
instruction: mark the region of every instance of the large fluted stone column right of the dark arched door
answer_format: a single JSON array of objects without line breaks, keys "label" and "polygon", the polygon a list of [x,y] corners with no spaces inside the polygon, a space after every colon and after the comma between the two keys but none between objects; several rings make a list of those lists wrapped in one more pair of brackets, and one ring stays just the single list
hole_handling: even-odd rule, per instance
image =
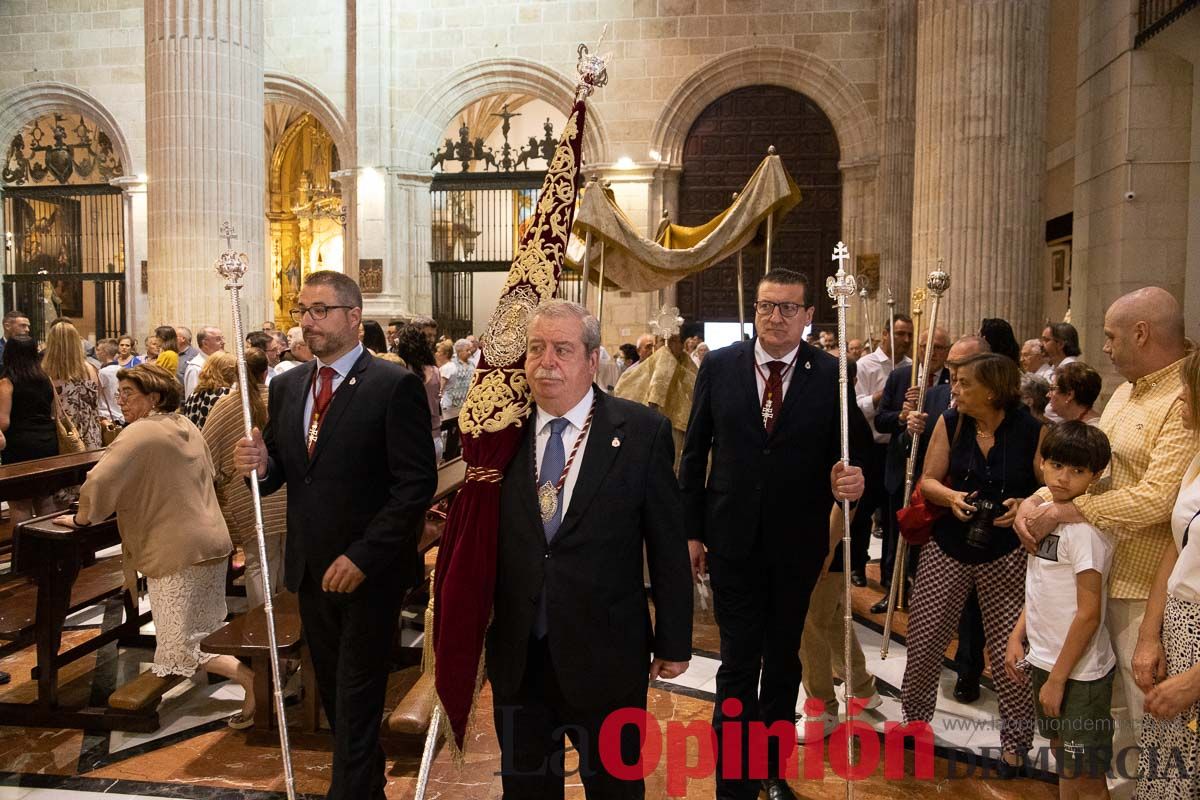
[{"label": "large fluted stone column right of the dark arched door", "polygon": [[944,259],[940,320],[1042,323],[1046,0],[920,0],[912,281]]}]

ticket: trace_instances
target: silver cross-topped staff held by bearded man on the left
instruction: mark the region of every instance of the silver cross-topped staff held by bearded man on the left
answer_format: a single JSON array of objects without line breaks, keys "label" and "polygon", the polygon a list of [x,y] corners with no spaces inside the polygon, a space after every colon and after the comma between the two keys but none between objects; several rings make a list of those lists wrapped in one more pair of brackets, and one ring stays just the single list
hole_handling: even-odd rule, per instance
[{"label": "silver cross-topped staff held by bearded man on the left", "polygon": [[[253,422],[250,416],[250,386],[246,379],[246,343],[245,331],[241,324],[241,279],[250,269],[245,253],[239,253],[233,248],[233,240],[238,237],[236,231],[228,222],[221,223],[221,236],[226,240],[226,249],[217,258],[215,264],[217,273],[226,279],[226,289],[229,290],[229,302],[233,305],[233,339],[235,354],[238,356],[238,389],[241,392],[241,420],[250,439],[253,431]],[[263,531],[263,498],[258,494],[258,481],[251,477],[250,494],[254,500],[254,539],[258,543],[258,563],[263,578],[263,610],[266,612],[266,640],[271,648],[271,678],[275,681],[275,716],[280,728],[280,750],[283,753],[283,782],[287,787],[288,800],[295,800],[296,786],[295,776],[292,774],[292,746],[288,742],[287,716],[283,709],[283,670],[280,666],[278,639],[275,636],[275,608],[271,604],[271,569],[266,559],[266,536]]]}]

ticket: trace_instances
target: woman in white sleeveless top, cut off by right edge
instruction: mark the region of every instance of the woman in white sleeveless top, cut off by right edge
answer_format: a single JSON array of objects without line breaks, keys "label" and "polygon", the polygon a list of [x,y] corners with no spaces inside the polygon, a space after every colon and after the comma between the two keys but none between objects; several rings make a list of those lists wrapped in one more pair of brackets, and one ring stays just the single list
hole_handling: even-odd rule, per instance
[{"label": "woman in white sleeveless top, cut off by right edge", "polygon": [[[1180,373],[1180,414],[1200,435],[1200,353]],[[1200,798],[1200,453],[1183,473],[1171,534],[1133,655],[1134,680],[1146,693],[1138,800]]]}]

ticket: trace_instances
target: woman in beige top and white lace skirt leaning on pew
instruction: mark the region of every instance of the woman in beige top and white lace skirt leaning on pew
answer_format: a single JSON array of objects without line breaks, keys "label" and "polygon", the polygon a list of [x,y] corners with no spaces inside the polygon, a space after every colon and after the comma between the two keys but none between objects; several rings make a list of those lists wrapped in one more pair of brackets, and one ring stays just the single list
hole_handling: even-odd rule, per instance
[{"label": "woman in beige top and white lace skirt leaning on pew", "polygon": [[198,669],[246,691],[232,728],[254,716],[254,673],[233,656],[200,651],[224,624],[227,560],[233,551],[217,505],[216,470],[204,437],[175,413],[182,387],[163,367],[142,363],[116,373],[126,427],[88,474],[79,511],[55,519],[89,525],[118,515],[126,583],[146,576],[155,621],[151,672],[191,678]]}]

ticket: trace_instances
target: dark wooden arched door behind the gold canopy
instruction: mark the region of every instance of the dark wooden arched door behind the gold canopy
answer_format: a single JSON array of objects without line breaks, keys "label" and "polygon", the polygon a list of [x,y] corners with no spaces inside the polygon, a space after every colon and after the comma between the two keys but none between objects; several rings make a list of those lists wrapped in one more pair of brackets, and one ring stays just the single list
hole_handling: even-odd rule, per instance
[{"label": "dark wooden arched door behind the gold canopy", "polygon": [[[696,225],[730,205],[774,145],[804,198],[776,225],[772,267],[804,272],[816,300],[814,326],[836,319],[824,296],[835,271],[829,255],[841,237],[840,149],[829,118],[798,91],[746,86],[712,102],[692,122],[684,142],[679,178],[679,223]],[[746,319],[763,273],[763,252],[743,253]],[[737,260],[731,258],[677,284],[679,312],[688,320],[737,321]]]}]

